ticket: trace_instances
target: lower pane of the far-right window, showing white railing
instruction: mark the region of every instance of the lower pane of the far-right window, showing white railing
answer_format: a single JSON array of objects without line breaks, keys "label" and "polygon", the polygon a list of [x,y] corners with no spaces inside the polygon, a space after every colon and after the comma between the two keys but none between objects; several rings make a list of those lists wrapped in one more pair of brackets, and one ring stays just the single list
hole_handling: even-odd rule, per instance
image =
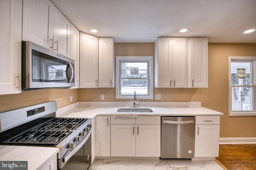
[{"label": "lower pane of the far-right window, showing white railing", "polygon": [[252,87],[232,87],[232,111],[252,111],[252,96]]}]

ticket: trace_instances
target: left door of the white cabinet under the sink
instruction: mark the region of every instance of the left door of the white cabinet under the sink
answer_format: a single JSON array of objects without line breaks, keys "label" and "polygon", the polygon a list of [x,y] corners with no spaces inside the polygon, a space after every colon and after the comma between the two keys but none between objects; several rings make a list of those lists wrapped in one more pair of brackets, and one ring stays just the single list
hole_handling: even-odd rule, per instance
[{"label": "left door of the white cabinet under the sink", "polygon": [[111,125],[111,156],[135,156],[135,125]]}]

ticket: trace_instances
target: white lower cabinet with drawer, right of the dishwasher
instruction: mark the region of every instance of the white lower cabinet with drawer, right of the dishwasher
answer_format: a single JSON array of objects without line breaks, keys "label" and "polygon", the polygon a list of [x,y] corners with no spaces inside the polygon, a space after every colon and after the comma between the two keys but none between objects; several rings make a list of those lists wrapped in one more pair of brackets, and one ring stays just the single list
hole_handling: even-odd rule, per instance
[{"label": "white lower cabinet with drawer, right of the dishwasher", "polygon": [[219,156],[220,117],[196,116],[194,157]]}]

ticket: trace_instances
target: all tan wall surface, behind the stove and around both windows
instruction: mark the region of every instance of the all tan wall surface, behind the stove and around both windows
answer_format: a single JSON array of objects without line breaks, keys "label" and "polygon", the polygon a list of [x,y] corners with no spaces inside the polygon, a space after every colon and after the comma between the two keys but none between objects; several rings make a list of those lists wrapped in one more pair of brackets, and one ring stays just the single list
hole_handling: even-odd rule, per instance
[{"label": "all tan wall surface, behind the stove and around both windows", "polygon": [[[154,43],[116,43],[116,56],[154,56]],[[256,44],[209,44],[208,88],[154,88],[161,94],[156,102],[202,102],[208,107],[224,113],[220,117],[220,137],[256,137],[256,116],[228,116],[228,56],[256,56]],[[48,89],[0,96],[0,111],[57,100],[58,108],[77,101],[116,100],[115,88]],[[73,96],[73,102],[70,101]],[[142,100],[141,100],[142,101]],[[144,100],[145,101],[145,100]]]}]

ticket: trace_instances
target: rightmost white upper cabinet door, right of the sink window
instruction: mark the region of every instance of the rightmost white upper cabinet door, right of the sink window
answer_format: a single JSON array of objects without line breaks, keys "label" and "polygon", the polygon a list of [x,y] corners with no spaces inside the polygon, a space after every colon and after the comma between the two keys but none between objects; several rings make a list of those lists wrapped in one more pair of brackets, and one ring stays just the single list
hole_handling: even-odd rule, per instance
[{"label": "rightmost white upper cabinet door, right of the sink window", "polygon": [[208,87],[208,39],[190,38],[188,87]]}]

